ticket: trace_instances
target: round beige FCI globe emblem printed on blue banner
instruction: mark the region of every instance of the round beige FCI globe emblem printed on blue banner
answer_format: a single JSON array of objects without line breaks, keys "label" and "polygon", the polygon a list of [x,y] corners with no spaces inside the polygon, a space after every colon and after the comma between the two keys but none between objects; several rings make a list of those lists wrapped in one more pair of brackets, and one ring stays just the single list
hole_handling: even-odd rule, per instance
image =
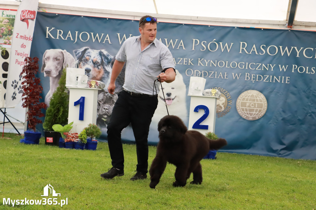
[{"label": "round beige FCI globe emblem printed on blue banner", "polygon": [[246,120],[258,120],[267,111],[268,103],[264,95],[257,90],[247,90],[237,98],[238,114]]}]

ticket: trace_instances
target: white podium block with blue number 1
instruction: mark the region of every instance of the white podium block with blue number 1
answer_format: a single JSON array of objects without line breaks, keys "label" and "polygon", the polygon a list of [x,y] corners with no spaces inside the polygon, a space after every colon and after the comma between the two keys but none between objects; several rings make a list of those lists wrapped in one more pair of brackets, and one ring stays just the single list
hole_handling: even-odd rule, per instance
[{"label": "white podium block with blue number 1", "polygon": [[[74,122],[70,132],[77,132],[78,134],[87,127],[89,123],[96,124],[97,121],[97,102],[99,88],[81,88],[81,87],[67,87],[69,88],[69,112],[68,123]],[[84,97],[84,103],[77,102],[81,97]],[[78,104],[75,106],[75,102]],[[82,110],[83,106],[83,110]],[[80,108],[81,107],[81,108]],[[81,117],[80,118],[80,112]]]}]

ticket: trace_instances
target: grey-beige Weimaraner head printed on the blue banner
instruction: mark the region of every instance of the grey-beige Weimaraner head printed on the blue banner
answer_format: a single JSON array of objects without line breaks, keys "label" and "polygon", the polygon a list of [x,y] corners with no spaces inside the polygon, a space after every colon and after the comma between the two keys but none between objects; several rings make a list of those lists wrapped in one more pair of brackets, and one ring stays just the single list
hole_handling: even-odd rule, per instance
[{"label": "grey-beige Weimaraner head printed on the blue banner", "polygon": [[63,68],[72,67],[75,58],[66,50],[49,49],[43,55],[43,66],[41,72],[44,77],[56,77],[62,74]]}]

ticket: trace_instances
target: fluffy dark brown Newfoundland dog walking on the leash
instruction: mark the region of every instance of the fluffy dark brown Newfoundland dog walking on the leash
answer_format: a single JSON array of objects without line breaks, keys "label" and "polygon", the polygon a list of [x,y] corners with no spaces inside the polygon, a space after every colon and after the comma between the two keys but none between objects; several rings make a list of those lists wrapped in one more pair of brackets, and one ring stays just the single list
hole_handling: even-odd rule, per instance
[{"label": "fluffy dark brown Newfoundland dog walking on the leash", "polygon": [[158,131],[157,153],[149,169],[150,188],[155,188],[159,183],[167,162],[177,167],[173,186],[185,186],[191,173],[193,181],[190,183],[201,184],[200,160],[210,149],[218,150],[227,144],[223,138],[210,140],[198,131],[188,131],[183,121],[174,115],[163,117],[158,123]]}]

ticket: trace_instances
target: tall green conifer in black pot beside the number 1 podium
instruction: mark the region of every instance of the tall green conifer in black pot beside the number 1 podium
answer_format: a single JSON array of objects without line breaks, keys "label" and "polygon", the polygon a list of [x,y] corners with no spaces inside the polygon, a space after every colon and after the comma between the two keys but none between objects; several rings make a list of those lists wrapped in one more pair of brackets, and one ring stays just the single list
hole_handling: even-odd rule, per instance
[{"label": "tall green conifer in black pot beside the number 1 podium", "polygon": [[68,124],[69,110],[69,94],[66,88],[66,68],[63,69],[61,78],[59,79],[58,87],[52,95],[49,107],[46,110],[46,115],[43,123],[45,134],[45,144],[58,145],[61,137],[60,132],[54,131],[52,128],[55,124]]}]

